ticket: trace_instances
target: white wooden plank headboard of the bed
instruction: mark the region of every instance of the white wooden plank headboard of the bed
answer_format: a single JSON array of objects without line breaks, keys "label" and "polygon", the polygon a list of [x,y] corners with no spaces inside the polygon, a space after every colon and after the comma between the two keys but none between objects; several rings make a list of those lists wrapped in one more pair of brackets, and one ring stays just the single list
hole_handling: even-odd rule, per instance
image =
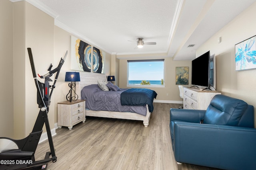
[{"label": "white wooden plank headboard of the bed", "polygon": [[98,80],[107,81],[106,74],[94,73],[94,72],[79,72],[80,82],[76,82],[76,94],[78,99],[81,99],[81,90],[84,86],[91,84],[98,84]]}]

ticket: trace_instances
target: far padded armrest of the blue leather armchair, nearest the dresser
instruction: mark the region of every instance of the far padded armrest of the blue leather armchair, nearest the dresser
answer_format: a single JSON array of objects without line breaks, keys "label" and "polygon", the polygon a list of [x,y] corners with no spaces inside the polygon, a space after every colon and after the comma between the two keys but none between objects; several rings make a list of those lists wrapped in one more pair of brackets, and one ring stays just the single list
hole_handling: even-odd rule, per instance
[{"label": "far padded armrest of the blue leather armchair, nearest the dresser", "polygon": [[186,121],[192,123],[200,123],[204,118],[206,110],[192,110],[192,109],[170,109],[171,121]]}]

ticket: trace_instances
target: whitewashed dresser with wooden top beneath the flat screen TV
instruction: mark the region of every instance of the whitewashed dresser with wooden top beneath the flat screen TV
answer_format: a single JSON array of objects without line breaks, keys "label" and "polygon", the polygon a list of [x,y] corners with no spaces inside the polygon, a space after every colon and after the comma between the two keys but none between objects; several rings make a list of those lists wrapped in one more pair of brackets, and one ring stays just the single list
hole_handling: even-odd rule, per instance
[{"label": "whitewashed dresser with wooden top beneath the flat screen TV", "polygon": [[221,92],[202,88],[183,87],[183,108],[206,110],[212,98]]}]

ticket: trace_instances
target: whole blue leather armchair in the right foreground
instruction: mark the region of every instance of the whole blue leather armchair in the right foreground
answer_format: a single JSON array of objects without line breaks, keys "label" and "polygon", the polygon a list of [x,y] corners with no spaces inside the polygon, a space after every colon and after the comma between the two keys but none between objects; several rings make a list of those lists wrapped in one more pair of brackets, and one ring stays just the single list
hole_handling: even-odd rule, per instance
[{"label": "whole blue leather armchair in the right foreground", "polygon": [[216,95],[207,110],[170,109],[170,132],[178,169],[256,169],[254,107],[242,100]]}]

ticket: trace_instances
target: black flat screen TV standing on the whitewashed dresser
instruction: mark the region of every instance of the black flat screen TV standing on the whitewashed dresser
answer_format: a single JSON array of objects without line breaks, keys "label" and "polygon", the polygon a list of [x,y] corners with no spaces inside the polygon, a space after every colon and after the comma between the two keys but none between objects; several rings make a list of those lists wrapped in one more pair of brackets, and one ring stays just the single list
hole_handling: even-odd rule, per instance
[{"label": "black flat screen TV standing on the whitewashed dresser", "polygon": [[203,86],[206,87],[205,89],[210,89],[210,51],[192,61],[191,78],[192,86]]}]

